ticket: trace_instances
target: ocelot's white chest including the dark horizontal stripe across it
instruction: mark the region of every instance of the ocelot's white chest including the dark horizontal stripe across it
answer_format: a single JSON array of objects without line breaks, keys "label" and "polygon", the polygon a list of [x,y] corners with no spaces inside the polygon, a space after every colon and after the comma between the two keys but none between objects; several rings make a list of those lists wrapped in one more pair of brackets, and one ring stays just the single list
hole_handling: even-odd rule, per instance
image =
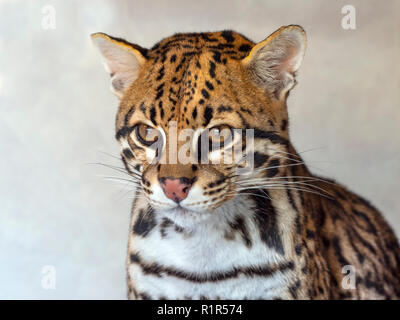
[{"label": "ocelot's white chest including the dark horizontal stripe across it", "polygon": [[[145,236],[131,236],[128,272],[139,293],[158,299],[272,299],[283,297],[292,265],[260,238],[251,207],[236,199],[191,230],[162,226],[163,213]],[[251,245],[229,222],[244,218]]]}]

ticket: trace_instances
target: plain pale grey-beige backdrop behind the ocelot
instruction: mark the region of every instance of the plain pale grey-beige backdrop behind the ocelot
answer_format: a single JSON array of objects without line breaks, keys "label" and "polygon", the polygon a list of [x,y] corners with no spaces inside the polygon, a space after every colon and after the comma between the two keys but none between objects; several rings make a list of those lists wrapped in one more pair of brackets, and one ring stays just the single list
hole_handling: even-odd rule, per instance
[{"label": "plain pale grey-beige backdrop behind the ocelot", "polygon": [[[355,30],[342,27],[348,4]],[[399,11],[394,0],[0,1],[0,298],[126,297],[132,188],[93,164],[121,166],[118,100],[89,39],[98,31],[151,47],[175,32],[258,42],[303,26],[292,141],[400,234]]]}]

